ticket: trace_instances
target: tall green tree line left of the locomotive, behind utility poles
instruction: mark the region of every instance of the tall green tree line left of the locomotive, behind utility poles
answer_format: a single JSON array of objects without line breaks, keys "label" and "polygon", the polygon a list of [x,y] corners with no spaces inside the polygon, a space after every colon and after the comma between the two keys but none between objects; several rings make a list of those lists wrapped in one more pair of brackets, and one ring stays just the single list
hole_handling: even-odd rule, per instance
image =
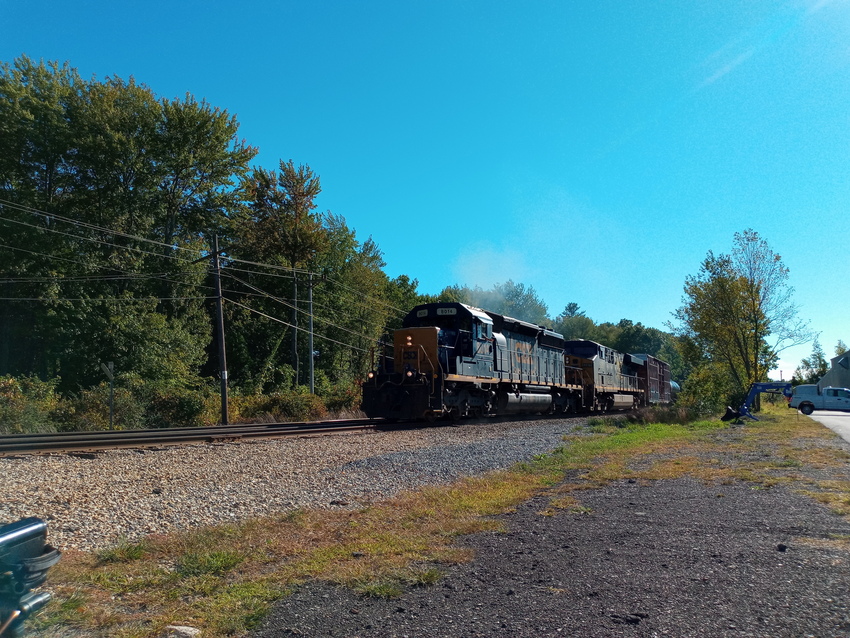
[{"label": "tall green tree line left of the locomotive, behind utility poles", "polygon": [[417,284],[390,279],[371,238],[318,210],[309,166],[253,167],[238,128],[225,110],[132,79],[26,57],[0,65],[0,375],[80,395],[110,361],[146,407],[192,404],[218,370],[217,236],[232,386],[291,391],[313,358],[319,391],[354,403]]}]

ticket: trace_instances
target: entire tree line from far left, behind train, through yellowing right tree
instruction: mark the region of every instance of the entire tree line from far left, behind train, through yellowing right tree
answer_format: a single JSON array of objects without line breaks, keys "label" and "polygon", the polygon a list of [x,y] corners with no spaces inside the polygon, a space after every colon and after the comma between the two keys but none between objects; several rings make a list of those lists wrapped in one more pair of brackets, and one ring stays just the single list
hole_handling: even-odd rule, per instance
[{"label": "entire tree line from far left, behind train, through yellowing right tree", "polygon": [[[0,421],[27,395],[68,427],[94,427],[107,361],[125,422],[212,418],[213,238],[230,385],[245,415],[293,404],[311,362],[324,403],[355,406],[376,344],[428,301],[658,356],[692,397],[715,402],[763,379],[783,344],[811,336],[787,269],[754,231],[736,235],[730,255],[709,253],[666,332],[596,323],[576,303],[550,317],[533,287],[511,280],[422,294],[416,280],[386,275],[371,237],[319,209],[310,166],[252,166],[257,149],[238,129],[226,110],[161,98],[132,78],[84,79],[68,63],[25,56],[0,64]],[[257,399],[270,396],[278,404]]]}]

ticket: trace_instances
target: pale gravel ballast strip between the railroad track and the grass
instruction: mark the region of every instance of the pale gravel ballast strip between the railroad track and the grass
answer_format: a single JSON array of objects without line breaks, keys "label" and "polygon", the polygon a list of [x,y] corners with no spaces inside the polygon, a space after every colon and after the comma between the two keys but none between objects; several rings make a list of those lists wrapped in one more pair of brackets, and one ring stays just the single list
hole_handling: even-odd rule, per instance
[{"label": "pale gravel ballast strip between the railroad track and the grass", "polygon": [[358,507],[551,450],[579,419],[0,458],[0,522],[38,516],[61,550],[298,507]]}]

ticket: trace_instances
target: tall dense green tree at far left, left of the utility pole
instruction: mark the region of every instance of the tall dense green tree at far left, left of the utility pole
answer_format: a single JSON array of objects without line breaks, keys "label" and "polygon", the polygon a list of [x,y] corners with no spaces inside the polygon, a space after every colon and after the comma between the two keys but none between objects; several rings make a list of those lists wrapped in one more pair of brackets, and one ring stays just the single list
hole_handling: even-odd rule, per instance
[{"label": "tall dense green tree at far left, left of the utility pole", "polygon": [[[0,374],[197,379],[210,340],[206,236],[256,150],[226,112],[67,63],[0,64]],[[158,242],[159,245],[151,242]],[[14,343],[14,347],[8,344]],[[157,354],[163,353],[164,356]]]}]

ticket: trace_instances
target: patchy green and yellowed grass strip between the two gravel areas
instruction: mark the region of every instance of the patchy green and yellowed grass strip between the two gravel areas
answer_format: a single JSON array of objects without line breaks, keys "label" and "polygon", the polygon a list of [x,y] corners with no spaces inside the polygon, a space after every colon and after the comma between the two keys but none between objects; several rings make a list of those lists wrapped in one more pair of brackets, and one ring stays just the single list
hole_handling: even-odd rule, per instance
[{"label": "patchy green and yellowed grass strip between the two gravel areas", "polygon": [[[30,627],[142,638],[181,624],[204,636],[238,636],[310,579],[393,598],[433,584],[447,565],[470,561],[471,551],[454,540],[501,531],[496,515],[541,495],[542,516],[592,515],[582,491],[625,479],[782,483],[850,514],[848,455],[831,444],[831,433],[783,408],[760,416],[731,428],[720,421],[595,419],[556,450],[509,471],[425,487],[359,511],[297,510],[95,554],[68,552],[50,572],[54,601]],[[803,473],[809,469],[822,476]],[[847,539],[832,542],[850,549]]]}]

